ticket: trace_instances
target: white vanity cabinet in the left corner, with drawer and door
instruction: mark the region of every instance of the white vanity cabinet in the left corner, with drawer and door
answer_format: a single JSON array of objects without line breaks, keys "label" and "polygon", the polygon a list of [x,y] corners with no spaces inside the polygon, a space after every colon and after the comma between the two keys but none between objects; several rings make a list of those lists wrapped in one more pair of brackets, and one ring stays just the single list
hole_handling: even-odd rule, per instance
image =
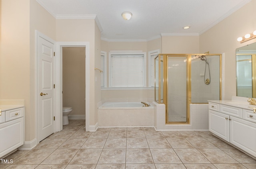
[{"label": "white vanity cabinet in the left corner, with drawer and door", "polygon": [[0,158],[24,144],[24,107],[8,108],[0,116]]}]

